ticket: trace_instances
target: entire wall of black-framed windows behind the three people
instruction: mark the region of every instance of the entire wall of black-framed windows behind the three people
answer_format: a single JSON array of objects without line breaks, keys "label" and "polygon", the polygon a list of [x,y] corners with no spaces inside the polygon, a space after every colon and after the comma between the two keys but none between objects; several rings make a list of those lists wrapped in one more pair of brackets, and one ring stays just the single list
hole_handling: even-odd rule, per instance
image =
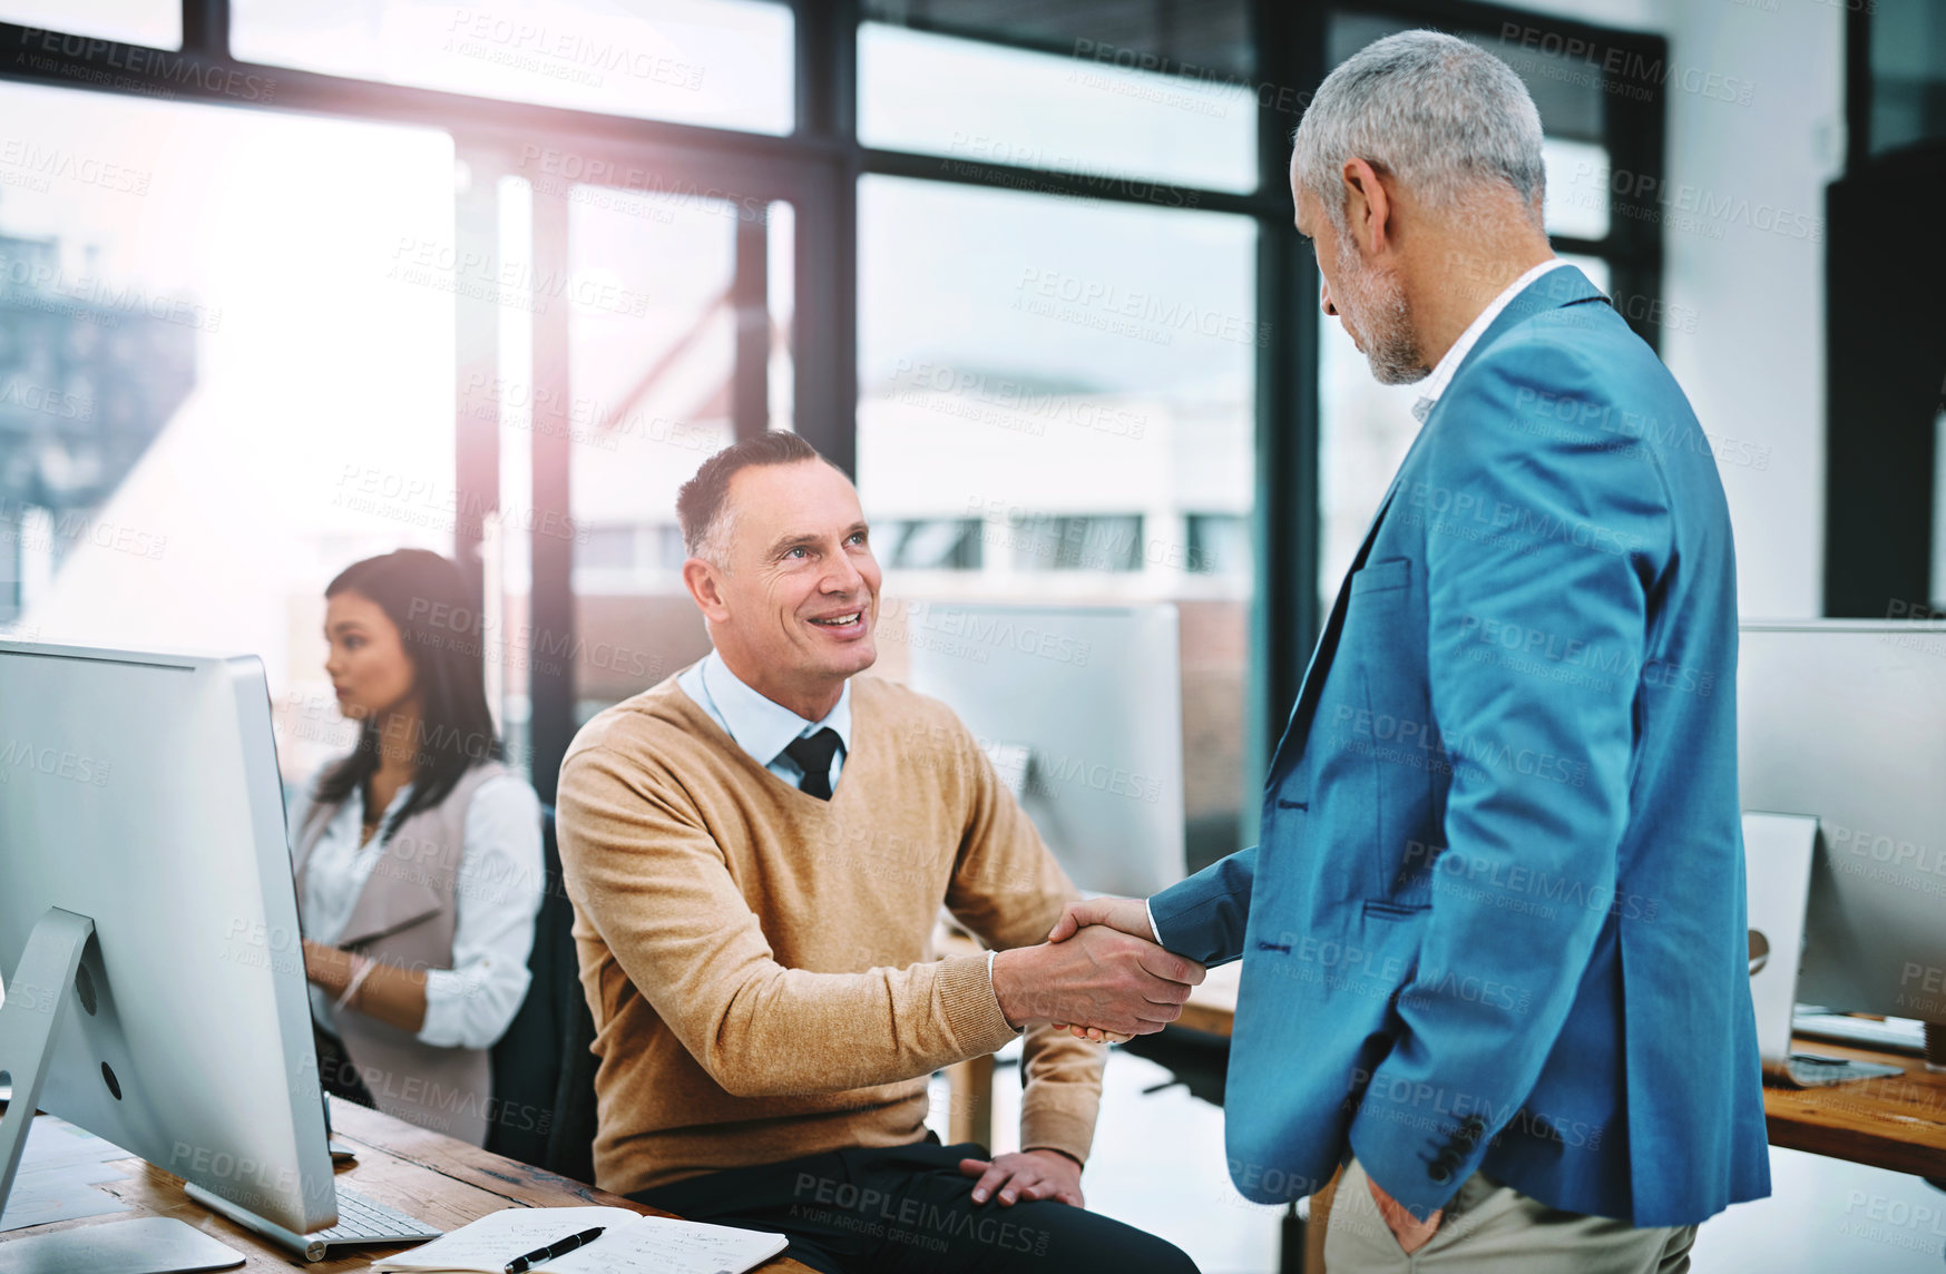
[{"label": "entire wall of black-framed windows behind the three people", "polygon": [[[1541,107],[1557,247],[1646,336],[1683,321],[1642,196],[1662,88],[1557,37],[1625,68],[1662,45],[1504,19],[0,0],[12,37],[35,23],[10,74],[62,86],[4,89],[0,624],[265,650],[302,692],[329,572],[442,547],[483,587],[488,689],[547,797],[580,720],[703,650],[675,488],[796,428],[856,473],[895,603],[1179,607],[1208,860],[1253,836],[1319,593],[1411,438],[1411,391],[1317,323],[1290,226],[1286,138],[1323,72],[1405,23],[1471,27]],[[156,313],[109,329],[101,290]],[[276,601],[202,601],[235,578]]]}]

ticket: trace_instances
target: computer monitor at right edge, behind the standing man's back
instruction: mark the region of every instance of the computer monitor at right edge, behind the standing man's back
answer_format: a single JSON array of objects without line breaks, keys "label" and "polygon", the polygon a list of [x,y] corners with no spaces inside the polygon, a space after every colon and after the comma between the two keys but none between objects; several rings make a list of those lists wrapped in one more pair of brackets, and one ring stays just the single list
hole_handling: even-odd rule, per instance
[{"label": "computer monitor at right edge, behind the standing man's back", "polygon": [[1946,624],[1746,622],[1746,811],[1818,819],[1798,998],[1946,1023]]}]

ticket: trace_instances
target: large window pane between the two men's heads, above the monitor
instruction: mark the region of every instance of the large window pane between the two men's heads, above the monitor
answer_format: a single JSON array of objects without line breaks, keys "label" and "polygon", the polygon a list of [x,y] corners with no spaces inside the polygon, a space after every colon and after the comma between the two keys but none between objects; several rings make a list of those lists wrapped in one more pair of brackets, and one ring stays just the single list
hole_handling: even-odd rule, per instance
[{"label": "large window pane between the two men's heads, above the monitor", "polygon": [[866,177],[858,226],[858,486],[895,527],[882,671],[917,601],[1173,601],[1189,854],[1238,848],[1251,584],[1247,560],[1205,570],[1193,531],[1251,510],[1255,224]]}]

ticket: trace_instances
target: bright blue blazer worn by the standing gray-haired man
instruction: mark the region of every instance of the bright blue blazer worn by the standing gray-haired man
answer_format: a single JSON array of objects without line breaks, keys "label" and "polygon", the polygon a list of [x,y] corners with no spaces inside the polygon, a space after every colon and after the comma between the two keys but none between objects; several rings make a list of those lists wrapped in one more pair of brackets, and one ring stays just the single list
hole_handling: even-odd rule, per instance
[{"label": "bright blue blazer worn by the standing gray-haired man", "polygon": [[1572,266],[1460,364],[1339,589],[1261,842],[1150,901],[1242,957],[1230,1177],[1356,1153],[1687,1225],[1769,1194],[1711,440]]}]

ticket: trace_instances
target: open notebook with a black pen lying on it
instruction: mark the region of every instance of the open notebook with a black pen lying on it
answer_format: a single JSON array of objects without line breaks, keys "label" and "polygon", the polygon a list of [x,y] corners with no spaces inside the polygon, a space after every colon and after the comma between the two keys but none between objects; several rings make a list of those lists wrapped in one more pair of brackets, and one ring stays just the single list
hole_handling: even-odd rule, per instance
[{"label": "open notebook with a black pen lying on it", "polygon": [[374,1270],[461,1270],[500,1274],[510,1260],[595,1225],[603,1235],[535,1274],[743,1274],[788,1247],[784,1235],[701,1221],[638,1216],[627,1208],[506,1208],[409,1253],[374,1260]]}]

